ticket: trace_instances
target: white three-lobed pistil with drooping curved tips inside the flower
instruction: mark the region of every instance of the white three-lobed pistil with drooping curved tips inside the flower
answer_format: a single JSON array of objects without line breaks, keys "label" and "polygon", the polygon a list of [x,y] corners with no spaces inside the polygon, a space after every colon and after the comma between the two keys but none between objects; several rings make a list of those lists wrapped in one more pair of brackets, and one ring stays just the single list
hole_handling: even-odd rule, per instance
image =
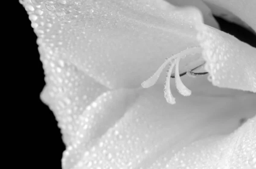
[{"label": "white three-lobed pistil with drooping curved tips inside the flower", "polygon": [[[178,92],[183,96],[190,96],[191,90],[189,90],[180,79],[179,63],[180,63],[180,59],[185,58],[186,55],[201,53],[201,52],[202,52],[202,48],[200,46],[196,46],[196,47],[189,47],[178,54],[172,55],[171,57],[166,59],[166,61],[160,66],[160,68],[158,68],[158,70],[154,73],[153,76],[151,76],[149,79],[147,79],[141,84],[142,87],[148,88],[153,86],[157,82],[163,69],[166,67],[167,64],[169,64],[169,70],[167,71],[166,82],[164,85],[164,97],[166,98],[166,101],[169,104],[175,104],[175,97],[172,96],[172,92],[170,89],[170,78],[171,78],[172,70],[174,67],[175,67],[175,84]],[[190,70],[188,70],[187,73],[193,76],[190,73]]]}]

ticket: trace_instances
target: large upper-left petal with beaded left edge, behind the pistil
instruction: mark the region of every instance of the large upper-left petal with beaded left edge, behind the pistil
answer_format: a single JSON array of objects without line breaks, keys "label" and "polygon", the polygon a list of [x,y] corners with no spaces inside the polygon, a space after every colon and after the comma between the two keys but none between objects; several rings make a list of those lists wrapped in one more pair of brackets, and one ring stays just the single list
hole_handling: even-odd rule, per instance
[{"label": "large upper-left petal with beaded left edge, behind the pistil", "polygon": [[79,115],[96,97],[109,88],[140,86],[166,57],[198,44],[191,27],[199,11],[180,11],[165,1],[20,2],[38,36],[47,81],[42,99],[55,112],[67,145]]}]

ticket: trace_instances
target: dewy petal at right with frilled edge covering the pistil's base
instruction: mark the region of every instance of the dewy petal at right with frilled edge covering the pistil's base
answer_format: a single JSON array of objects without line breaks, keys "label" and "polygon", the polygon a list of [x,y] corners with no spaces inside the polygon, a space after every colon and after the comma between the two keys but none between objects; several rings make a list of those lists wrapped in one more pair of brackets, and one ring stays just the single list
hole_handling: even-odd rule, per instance
[{"label": "dewy petal at right with frilled edge covering the pistil's base", "polygon": [[256,92],[256,48],[230,34],[198,25],[209,80],[218,87]]}]

